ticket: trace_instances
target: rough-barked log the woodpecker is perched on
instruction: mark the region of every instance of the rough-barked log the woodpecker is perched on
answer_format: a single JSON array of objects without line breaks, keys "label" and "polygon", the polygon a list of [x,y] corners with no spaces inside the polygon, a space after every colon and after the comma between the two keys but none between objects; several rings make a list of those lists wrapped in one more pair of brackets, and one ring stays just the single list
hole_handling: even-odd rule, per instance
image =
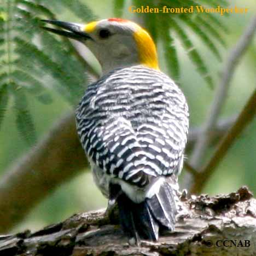
[{"label": "rough-barked log the woodpecker is perched on", "polygon": [[181,200],[184,208],[175,231],[161,234],[158,242],[130,245],[119,225],[100,210],[75,214],[34,233],[0,236],[0,255],[256,254],[256,200],[246,187],[214,197],[183,193]]}]

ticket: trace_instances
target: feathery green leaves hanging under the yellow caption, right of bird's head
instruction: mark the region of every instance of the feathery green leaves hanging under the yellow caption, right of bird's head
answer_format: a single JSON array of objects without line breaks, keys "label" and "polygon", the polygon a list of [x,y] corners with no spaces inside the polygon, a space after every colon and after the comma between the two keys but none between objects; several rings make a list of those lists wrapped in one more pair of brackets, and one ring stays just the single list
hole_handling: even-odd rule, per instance
[{"label": "feathery green leaves hanging under the yellow caption, right of bird's head", "polygon": [[[189,8],[196,5],[205,7],[217,7],[218,5],[225,6],[228,4],[225,0],[172,0],[172,1],[150,1],[150,0],[133,0],[132,4],[136,7],[149,5],[150,8],[158,8],[162,10],[166,8]],[[219,44],[225,46],[223,36],[218,31],[226,32],[226,27],[212,13],[141,13],[143,16],[144,26],[148,28],[155,40],[161,40],[165,48],[165,58],[170,76],[174,80],[179,79],[179,60],[176,53],[176,38],[181,42],[184,49],[187,51],[189,59],[194,63],[196,71],[205,79],[206,83],[213,87],[213,79],[205,60],[201,57],[200,49],[191,40],[191,33],[205,44],[210,51],[221,59],[219,53]],[[218,30],[216,29],[218,28]],[[217,42],[219,44],[217,44]]]}]

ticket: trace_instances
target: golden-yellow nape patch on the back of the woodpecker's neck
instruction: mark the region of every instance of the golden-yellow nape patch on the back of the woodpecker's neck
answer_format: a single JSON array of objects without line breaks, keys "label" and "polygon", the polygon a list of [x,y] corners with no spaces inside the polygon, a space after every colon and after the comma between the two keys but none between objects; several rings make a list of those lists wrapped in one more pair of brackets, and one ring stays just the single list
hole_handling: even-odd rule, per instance
[{"label": "golden-yellow nape patch on the back of the woodpecker's neck", "polygon": [[149,33],[143,30],[143,28],[136,26],[136,31],[133,36],[137,44],[141,64],[150,68],[159,69],[155,43],[149,36]]}]

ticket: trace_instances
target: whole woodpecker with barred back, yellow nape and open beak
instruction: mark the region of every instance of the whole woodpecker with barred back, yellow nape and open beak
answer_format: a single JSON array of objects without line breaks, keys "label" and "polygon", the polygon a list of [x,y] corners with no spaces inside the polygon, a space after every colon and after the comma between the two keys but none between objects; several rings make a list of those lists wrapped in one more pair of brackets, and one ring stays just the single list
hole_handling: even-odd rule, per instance
[{"label": "whole woodpecker with barred back, yellow nape and open beak", "polygon": [[100,62],[102,77],[76,109],[78,135],[97,187],[118,205],[124,232],[157,241],[160,230],[174,230],[189,127],[185,96],[159,70],[153,39],[135,22],[43,21],[62,28],[45,30],[79,40]]}]

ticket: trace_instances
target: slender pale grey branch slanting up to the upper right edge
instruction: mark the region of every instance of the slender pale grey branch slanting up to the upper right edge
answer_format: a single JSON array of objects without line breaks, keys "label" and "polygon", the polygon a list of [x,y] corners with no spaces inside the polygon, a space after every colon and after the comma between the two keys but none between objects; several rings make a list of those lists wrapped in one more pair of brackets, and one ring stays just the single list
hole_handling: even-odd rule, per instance
[{"label": "slender pale grey branch slanting up to the upper right edge", "polygon": [[207,149],[207,146],[211,141],[212,131],[216,126],[217,119],[225,102],[226,95],[230,86],[230,81],[235,71],[235,67],[241,60],[241,57],[247,50],[248,46],[251,44],[255,31],[256,16],[252,19],[251,22],[249,22],[246,31],[242,34],[235,47],[230,51],[228,60],[226,61],[226,64],[224,66],[225,68],[222,79],[217,88],[205,124],[203,125],[201,136],[199,137],[195,145],[193,154],[190,156],[190,165],[194,168],[199,168],[201,165],[203,154],[205,153],[205,150]]}]

